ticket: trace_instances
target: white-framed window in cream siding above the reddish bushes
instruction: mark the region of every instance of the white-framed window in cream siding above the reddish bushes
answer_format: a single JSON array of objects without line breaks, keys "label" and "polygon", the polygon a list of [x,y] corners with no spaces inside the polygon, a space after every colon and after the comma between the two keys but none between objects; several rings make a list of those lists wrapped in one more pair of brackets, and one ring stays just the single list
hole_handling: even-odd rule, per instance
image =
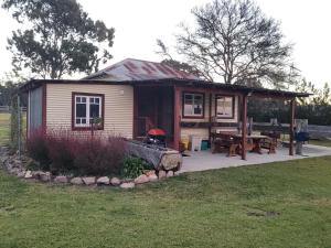
[{"label": "white-framed window in cream siding above the reddish bushes", "polygon": [[90,127],[103,121],[103,96],[74,94],[74,127]]}]

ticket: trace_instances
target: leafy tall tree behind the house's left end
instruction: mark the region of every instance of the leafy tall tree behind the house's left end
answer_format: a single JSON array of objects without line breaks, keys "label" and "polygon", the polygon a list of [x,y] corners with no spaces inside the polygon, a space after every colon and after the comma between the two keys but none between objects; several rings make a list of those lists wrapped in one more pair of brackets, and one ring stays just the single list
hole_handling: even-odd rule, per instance
[{"label": "leafy tall tree behind the house's left end", "polygon": [[8,40],[17,73],[28,68],[42,78],[90,74],[111,58],[114,29],[93,21],[76,0],[4,0],[2,8],[29,26]]}]

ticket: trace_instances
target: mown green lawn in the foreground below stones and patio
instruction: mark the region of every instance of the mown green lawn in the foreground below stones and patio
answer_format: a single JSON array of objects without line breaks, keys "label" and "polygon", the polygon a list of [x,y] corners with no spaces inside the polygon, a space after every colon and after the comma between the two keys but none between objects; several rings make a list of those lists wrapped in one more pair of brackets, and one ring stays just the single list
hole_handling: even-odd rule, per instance
[{"label": "mown green lawn in the foreground below stones and patio", "polygon": [[331,157],[122,191],[0,171],[0,247],[331,247]]}]

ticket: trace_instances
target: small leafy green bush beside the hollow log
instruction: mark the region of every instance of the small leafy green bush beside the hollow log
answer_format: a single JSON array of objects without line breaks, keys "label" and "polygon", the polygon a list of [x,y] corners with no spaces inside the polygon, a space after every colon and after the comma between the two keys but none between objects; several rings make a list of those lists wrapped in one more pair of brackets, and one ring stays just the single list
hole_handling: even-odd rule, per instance
[{"label": "small leafy green bush beside the hollow log", "polygon": [[151,170],[152,165],[137,157],[127,157],[124,160],[122,173],[128,179],[135,179],[143,174],[145,170]]}]

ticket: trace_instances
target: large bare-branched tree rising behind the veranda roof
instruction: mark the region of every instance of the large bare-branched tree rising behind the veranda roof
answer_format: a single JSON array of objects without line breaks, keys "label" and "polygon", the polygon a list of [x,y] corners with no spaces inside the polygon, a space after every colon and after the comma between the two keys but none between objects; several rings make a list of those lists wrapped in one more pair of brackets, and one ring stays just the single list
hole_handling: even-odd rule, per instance
[{"label": "large bare-branched tree rising behind the veranda roof", "polygon": [[292,46],[284,43],[279,22],[250,0],[214,0],[194,8],[196,28],[182,24],[177,51],[206,79],[277,88],[289,77]]}]

